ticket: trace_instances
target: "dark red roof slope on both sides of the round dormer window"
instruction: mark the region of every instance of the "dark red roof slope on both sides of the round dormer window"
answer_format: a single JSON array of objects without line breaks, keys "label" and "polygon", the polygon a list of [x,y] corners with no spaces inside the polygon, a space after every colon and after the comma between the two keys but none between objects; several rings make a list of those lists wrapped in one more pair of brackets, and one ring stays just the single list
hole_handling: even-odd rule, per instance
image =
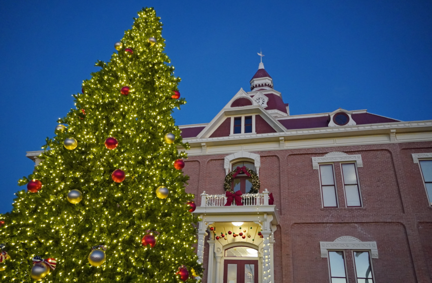
[{"label": "dark red roof slope on both sides of the round dormer window", "polygon": [[[370,113],[352,114],[351,117],[354,121],[356,121],[357,125],[399,122],[395,119],[390,119]],[[329,116],[285,119],[278,120],[278,122],[287,128],[287,130],[325,128],[329,125]]]}]

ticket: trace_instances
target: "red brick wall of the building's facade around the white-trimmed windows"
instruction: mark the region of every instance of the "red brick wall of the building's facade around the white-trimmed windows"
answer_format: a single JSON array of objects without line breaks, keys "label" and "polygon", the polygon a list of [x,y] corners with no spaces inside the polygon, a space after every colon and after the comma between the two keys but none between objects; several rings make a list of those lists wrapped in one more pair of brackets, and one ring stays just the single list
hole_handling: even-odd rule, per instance
[{"label": "red brick wall of the building's facade around the white-trimmed windows", "polygon": [[[362,208],[346,208],[338,162],[334,166],[339,208],[322,208],[318,170],[312,168],[311,157],[332,151],[361,154]],[[377,283],[431,283],[432,209],[419,164],[411,156],[421,152],[432,152],[432,142],[254,152],[261,156],[261,191],[273,193],[280,214],[274,245],[275,282],[328,283],[327,259],[320,257],[319,241],[353,236],[377,242],[379,258],[372,260]],[[187,191],[223,194],[226,155],[190,156],[184,169],[191,177]],[[200,205],[199,196],[197,201]],[[350,282],[355,282],[352,256],[346,254],[351,260]]]}]

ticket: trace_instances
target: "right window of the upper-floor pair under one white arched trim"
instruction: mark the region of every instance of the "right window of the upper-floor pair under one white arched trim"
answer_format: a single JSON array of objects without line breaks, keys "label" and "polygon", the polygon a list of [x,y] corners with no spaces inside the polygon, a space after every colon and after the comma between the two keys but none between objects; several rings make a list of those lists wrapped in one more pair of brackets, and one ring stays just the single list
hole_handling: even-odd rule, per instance
[{"label": "right window of the upper-floor pair under one white arched trim", "polygon": [[341,164],[347,207],[361,207],[360,189],[355,163]]}]

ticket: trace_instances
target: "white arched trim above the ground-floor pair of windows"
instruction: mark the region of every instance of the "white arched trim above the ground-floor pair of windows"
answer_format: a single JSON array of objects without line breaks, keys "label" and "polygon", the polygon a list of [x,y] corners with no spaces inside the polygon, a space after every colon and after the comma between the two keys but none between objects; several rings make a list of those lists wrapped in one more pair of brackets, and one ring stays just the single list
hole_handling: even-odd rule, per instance
[{"label": "white arched trim above the ground-floor pair of windows", "polygon": [[362,242],[351,236],[339,237],[333,242],[319,242],[321,257],[328,256],[328,250],[368,250],[373,259],[378,258],[376,242]]}]

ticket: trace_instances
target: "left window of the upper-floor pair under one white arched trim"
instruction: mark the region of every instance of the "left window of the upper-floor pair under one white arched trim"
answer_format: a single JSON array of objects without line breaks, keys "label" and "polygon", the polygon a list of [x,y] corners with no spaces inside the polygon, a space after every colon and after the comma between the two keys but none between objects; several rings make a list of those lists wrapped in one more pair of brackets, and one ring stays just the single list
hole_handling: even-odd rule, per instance
[{"label": "left window of the upper-floor pair under one white arched trim", "polygon": [[337,208],[337,195],[333,164],[319,165],[321,194],[324,208]]}]

